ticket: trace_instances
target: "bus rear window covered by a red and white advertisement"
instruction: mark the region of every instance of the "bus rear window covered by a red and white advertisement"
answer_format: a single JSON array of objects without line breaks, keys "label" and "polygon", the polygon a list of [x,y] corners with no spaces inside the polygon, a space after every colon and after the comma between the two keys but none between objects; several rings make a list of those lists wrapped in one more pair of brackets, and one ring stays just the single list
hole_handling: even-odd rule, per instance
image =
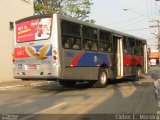
[{"label": "bus rear window covered by a red and white advertisement", "polygon": [[29,42],[45,40],[51,34],[52,18],[38,18],[16,24],[16,41]]}]

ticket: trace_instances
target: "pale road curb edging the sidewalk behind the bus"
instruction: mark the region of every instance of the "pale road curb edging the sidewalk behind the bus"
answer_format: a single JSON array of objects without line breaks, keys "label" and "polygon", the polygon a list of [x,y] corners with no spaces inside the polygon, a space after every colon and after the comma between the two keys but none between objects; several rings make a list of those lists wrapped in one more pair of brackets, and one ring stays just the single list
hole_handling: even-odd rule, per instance
[{"label": "pale road curb edging the sidewalk behind the bus", "polygon": [[4,87],[0,87],[0,90],[8,90],[8,89],[11,89],[11,88],[16,88],[16,87],[28,87],[28,86],[40,86],[40,85],[43,85],[43,84],[48,84],[48,82],[40,82],[40,83],[30,83],[30,84],[27,84],[27,85],[12,85],[12,86],[4,86]]}]

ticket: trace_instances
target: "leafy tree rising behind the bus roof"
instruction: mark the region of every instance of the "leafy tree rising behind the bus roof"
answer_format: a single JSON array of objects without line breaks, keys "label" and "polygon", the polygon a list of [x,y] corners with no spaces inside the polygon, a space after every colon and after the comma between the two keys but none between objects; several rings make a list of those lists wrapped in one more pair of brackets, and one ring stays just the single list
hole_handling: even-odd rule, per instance
[{"label": "leafy tree rising behind the bus roof", "polygon": [[61,13],[86,22],[94,23],[89,18],[92,0],[35,0],[35,14]]}]

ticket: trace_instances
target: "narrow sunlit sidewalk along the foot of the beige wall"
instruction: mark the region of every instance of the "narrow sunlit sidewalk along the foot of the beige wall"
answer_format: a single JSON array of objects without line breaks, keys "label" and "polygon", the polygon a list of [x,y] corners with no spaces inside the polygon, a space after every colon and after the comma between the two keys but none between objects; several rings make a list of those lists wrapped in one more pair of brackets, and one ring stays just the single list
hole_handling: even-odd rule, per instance
[{"label": "narrow sunlit sidewalk along the foot of the beige wall", "polygon": [[10,88],[15,88],[15,87],[39,86],[43,84],[44,85],[48,84],[48,81],[46,80],[34,80],[34,81],[15,80],[15,81],[0,83],[0,90],[7,90]]}]

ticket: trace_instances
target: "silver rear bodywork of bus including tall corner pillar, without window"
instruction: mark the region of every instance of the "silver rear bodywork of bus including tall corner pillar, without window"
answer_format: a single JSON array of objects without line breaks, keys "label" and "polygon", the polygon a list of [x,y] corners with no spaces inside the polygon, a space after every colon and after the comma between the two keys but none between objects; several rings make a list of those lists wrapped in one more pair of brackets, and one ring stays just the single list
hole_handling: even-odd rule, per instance
[{"label": "silver rear bodywork of bus including tall corner pillar, without window", "polygon": [[[36,19],[33,17],[33,19]],[[14,44],[14,77],[19,79],[59,78],[57,15],[52,18],[51,37]],[[32,20],[32,19],[31,19]],[[22,21],[23,22],[23,21]],[[31,23],[32,24],[32,23]],[[25,24],[24,24],[25,25]],[[56,60],[57,59],[57,60]]]}]

